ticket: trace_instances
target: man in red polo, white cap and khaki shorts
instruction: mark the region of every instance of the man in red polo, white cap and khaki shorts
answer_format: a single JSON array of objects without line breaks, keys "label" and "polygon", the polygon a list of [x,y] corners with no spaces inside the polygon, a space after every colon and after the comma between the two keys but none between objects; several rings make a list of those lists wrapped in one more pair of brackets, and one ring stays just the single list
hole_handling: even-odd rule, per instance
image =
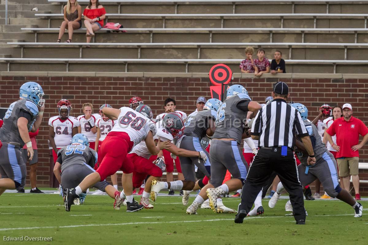
[{"label": "man in red polo, white cap and khaki shorts", "polygon": [[[359,149],[368,141],[368,128],[365,124],[355,118],[351,104],[343,105],[343,117],[336,119],[326,130],[326,137],[332,148],[337,151],[337,166],[339,176],[343,178],[344,189],[350,191],[350,175],[353,178],[355,200],[360,200],[359,194]],[[332,137],[336,134],[336,144]],[[364,136],[359,143],[359,135]]]}]

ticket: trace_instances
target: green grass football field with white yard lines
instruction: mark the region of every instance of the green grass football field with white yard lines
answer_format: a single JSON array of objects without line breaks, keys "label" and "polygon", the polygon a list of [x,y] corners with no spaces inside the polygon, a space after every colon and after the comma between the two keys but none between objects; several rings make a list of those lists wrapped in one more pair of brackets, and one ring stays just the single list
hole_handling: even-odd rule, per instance
[{"label": "green grass football field with white yard lines", "polygon": [[[285,216],[285,199],[272,210],[263,199],[265,214],[243,224],[234,224],[234,214],[210,209],[188,215],[178,196],[158,196],[154,209],[135,213],[123,206],[114,210],[108,196],[88,195],[71,212],[58,195],[4,193],[0,199],[0,244],[368,244],[368,216],[354,218],[354,210],[340,201],[305,201],[309,216],[305,226],[297,226]],[[234,209],[239,202],[224,198]],[[368,210],[368,202],[361,203]],[[3,241],[8,236],[52,241]]]}]

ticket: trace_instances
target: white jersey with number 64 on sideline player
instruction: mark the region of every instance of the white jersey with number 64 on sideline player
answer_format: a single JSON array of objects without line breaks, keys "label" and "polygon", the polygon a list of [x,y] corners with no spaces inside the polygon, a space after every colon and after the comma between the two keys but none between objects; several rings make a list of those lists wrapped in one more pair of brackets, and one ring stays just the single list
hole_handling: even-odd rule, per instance
[{"label": "white jersey with number 64 on sideline player", "polygon": [[69,116],[66,120],[61,120],[59,116],[54,116],[50,117],[49,125],[54,128],[56,148],[63,148],[70,145],[73,128],[79,126],[79,121],[72,116]]}]

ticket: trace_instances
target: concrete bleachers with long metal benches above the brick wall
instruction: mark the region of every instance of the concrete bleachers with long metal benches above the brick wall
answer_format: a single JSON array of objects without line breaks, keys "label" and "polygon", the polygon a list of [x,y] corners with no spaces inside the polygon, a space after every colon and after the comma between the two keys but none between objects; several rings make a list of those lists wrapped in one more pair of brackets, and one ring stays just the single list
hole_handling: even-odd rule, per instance
[{"label": "concrete bleachers with long metal benches above the brick wall", "polygon": [[55,43],[65,3],[9,0],[0,71],[203,72],[223,62],[238,71],[253,46],[270,59],[282,51],[288,73],[368,72],[368,0],[100,0],[105,22],[126,32],[100,29],[90,47],[84,26],[73,43]]}]

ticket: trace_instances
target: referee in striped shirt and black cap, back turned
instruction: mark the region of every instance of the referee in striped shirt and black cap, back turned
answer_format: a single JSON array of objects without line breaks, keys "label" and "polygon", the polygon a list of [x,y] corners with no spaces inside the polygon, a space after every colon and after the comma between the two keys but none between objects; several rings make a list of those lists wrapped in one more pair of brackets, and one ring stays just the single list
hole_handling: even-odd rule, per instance
[{"label": "referee in striped shirt and black cap, back turned", "polygon": [[257,194],[275,171],[289,192],[296,224],[305,224],[303,187],[298,179],[293,149],[295,135],[298,135],[309,154],[308,165],[314,164],[311,139],[298,110],[286,102],[289,97],[287,84],[275,84],[272,97],[272,102],[258,111],[252,125],[251,136],[259,140],[259,150],[244,181],[235,223],[243,223]]}]

